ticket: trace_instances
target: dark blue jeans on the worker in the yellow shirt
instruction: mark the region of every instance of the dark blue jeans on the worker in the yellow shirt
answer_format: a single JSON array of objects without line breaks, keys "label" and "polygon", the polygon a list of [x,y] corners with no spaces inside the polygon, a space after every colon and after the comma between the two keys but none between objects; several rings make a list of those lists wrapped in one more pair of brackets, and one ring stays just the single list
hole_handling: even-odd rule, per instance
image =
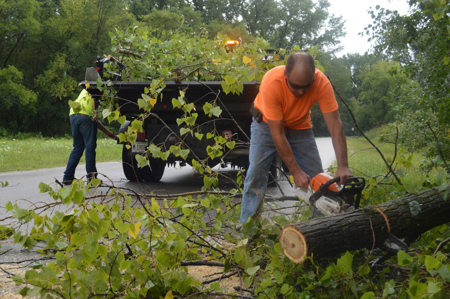
[{"label": "dark blue jeans on the worker in the yellow shirt", "polygon": [[87,179],[97,177],[97,168],[95,168],[95,148],[97,147],[97,122],[92,121],[90,116],[84,114],[72,114],[70,116],[70,125],[72,126],[73,149],[67,162],[66,171],[64,171],[63,181],[72,181],[75,179],[75,169],[86,150],[86,172]]}]

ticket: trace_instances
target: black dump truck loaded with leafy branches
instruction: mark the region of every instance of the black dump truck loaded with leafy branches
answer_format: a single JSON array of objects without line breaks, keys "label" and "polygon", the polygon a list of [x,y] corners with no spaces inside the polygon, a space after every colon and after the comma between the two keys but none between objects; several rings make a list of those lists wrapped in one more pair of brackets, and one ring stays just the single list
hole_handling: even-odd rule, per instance
[{"label": "black dump truck loaded with leafy branches", "polygon": [[[101,92],[96,88],[97,78],[103,79],[104,64],[109,63],[107,58],[99,56],[95,62],[94,67],[89,67],[86,70],[85,81],[81,82],[83,87],[89,84],[89,92],[94,98],[99,98]],[[139,109],[137,101],[144,93],[144,88],[150,86],[150,81],[121,81],[120,74],[112,74],[114,80],[111,80],[113,88],[118,91],[117,97],[118,105],[120,107],[121,115],[126,116],[126,122],[121,125],[118,134],[125,132],[130,126],[131,122],[138,118],[143,110]],[[105,79],[106,80],[106,79]],[[105,84],[106,81],[103,81]],[[214,144],[213,138],[207,139],[206,136],[202,140],[198,140],[191,134],[184,134],[180,137],[178,132],[180,128],[176,123],[176,119],[184,115],[184,112],[171,103],[172,98],[178,98],[180,90],[185,91],[185,100],[187,103],[193,103],[194,109],[198,113],[196,123],[202,124],[201,130],[206,135],[207,132],[218,132],[223,138],[228,141],[235,141],[236,144],[233,149],[224,150],[224,154],[211,161],[207,165],[211,168],[215,165],[221,164],[222,167],[231,166],[239,169],[248,169],[249,160],[249,146],[251,137],[250,125],[252,123],[252,115],[249,109],[254,101],[257,93],[259,83],[256,81],[244,83],[243,92],[241,94],[225,94],[221,87],[220,81],[167,81],[162,90],[162,100],[152,108],[152,113],[158,117],[148,117],[144,120],[142,132],[138,132],[137,141],[130,144],[130,148],[126,147],[125,143],[119,142],[117,144],[122,146],[122,167],[126,179],[130,181],[146,181],[158,182],[162,179],[166,165],[175,166],[179,162],[180,166],[186,164],[192,165],[192,160],[207,159],[206,148],[207,145]],[[222,110],[222,114],[218,119],[211,119],[203,112],[203,105],[205,102],[211,102],[220,97],[217,102]],[[174,134],[177,133],[177,134]],[[118,135],[117,134],[117,135]],[[171,145],[175,145],[183,141],[190,152],[186,159],[181,156],[170,155],[166,161],[160,158],[153,158],[151,154],[148,155],[149,166],[138,167],[135,156],[136,154],[143,155],[148,146],[153,143],[157,146],[164,145],[169,149]],[[277,154],[274,157],[270,172],[273,179],[280,179],[282,176],[282,161]],[[269,181],[274,180],[269,179]]]}]

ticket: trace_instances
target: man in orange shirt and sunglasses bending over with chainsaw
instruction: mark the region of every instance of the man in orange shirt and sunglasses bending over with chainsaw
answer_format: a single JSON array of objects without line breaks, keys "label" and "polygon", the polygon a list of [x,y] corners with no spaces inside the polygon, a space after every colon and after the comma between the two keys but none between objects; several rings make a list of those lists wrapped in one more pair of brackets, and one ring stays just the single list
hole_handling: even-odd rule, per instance
[{"label": "man in orange shirt and sunglasses bending over with chainsaw", "polygon": [[255,108],[264,121],[252,122],[241,223],[261,211],[270,163],[277,151],[298,187],[307,188],[308,180],[323,172],[310,117],[316,101],[331,134],[338,161],[336,176],[341,177],[343,184],[353,175],[348,168],[347,142],[330,81],[315,68],[310,54],[292,54],[286,66],[275,67],[264,75],[255,99]]}]

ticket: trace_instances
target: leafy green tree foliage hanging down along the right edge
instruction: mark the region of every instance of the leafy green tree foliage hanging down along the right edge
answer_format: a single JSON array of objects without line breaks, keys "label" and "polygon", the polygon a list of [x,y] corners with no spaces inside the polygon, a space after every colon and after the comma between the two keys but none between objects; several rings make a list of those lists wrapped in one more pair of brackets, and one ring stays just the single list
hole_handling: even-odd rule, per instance
[{"label": "leafy green tree foliage hanging down along the right edge", "polygon": [[450,10],[446,1],[413,0],[410,5],[405,16],[378,6],[369,11],[374,25],[365,34],[375,40],[378,52],[401,62],[419,84],[399,102],[397,120],[408,134],[403,143],[411,151],[433,144],[425,156],[439,156],[441,164],[450,160]]}]

